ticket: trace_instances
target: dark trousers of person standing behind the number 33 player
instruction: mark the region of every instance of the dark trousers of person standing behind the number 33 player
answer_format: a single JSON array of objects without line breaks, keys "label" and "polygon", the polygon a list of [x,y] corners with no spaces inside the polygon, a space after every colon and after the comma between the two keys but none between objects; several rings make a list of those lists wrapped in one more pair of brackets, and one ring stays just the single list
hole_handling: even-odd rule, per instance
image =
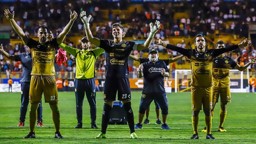
[{"label": "dark trousers of person standing behind the number 33 player", "polygon": [[[27,113],[27,109],[28,109],[29,87],[30,87],[30,82],[21,82],[20,121],[23,121],[23,122],[26,119],[26,113]],[[38,121],[43,121],[42,113],[43,113],[43,107],[42,107],[42,103],[40,102],[38,109],[37,109],[37,120]]]}]

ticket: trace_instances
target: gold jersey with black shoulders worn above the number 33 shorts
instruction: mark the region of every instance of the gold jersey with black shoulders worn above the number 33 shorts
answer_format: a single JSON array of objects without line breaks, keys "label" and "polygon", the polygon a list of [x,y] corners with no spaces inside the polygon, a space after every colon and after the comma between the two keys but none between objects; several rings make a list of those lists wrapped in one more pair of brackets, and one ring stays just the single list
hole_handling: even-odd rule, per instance
[{"label": "gold jersey with black shoulders worn above the number 33 shorts", "polygon": [[57,38],[41,44],[29,38],[26,44],[32,55],[31,75],[55,75],[54,61],[55,51],[58,48]]}]

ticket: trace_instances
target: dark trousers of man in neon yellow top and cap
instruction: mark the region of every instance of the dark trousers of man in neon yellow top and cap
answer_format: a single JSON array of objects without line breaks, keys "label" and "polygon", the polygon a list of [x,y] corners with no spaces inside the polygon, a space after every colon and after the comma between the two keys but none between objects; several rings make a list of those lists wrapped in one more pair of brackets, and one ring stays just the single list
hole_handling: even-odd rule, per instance
[{"label": "dark trousers of man in neon yellow top and cap", "polygon": [[83,123],[83,101],[86,93],[90,105],[91,123],[96,120],[96,90],[95,79],[75,79],[75,96],[76,96],[76,118],[77,122]]}]

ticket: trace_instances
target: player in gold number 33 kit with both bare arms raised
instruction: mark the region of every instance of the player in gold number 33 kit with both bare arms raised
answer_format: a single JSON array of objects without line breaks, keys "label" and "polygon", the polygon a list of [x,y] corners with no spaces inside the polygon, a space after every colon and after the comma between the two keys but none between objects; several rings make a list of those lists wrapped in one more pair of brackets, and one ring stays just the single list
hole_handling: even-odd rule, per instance
[{"label": "player in gold number 33 kit with both bare arms raised", "polygon": [[49,103],[52,110],[52,118],[55,126],[55,138],[63,138],[60,134],[60,113],[58,109],[58,90],[55,79],[55,52],[58,46],[64,41],[67,33],[70,31],[77,13],[70,12],[70,21],[64,27],[63,31],[48,41],[47,27],[40,25],[37,29],[37,37],[39,41],[29,38],[14,20],[14,11],[11,14],[7,9],[4,15],[11,22],[16,33],[21,37],[22,41],[30,48],[32,56],[32,72],[29,88],[29,127],[30,131],[24,138],[35,138],[35,123],[37,117],[38,103],[41,101],[42,93],[44,93],[45,102]]}]

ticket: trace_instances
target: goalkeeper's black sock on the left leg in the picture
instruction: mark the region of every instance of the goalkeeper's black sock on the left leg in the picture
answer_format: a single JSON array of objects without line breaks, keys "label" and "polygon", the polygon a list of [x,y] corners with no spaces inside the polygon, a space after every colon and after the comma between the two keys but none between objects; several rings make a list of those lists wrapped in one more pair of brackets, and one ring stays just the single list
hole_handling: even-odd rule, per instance
[{"label": "goalkeeper's black sock on the left leg in the picture", "polygon": [[110,105],[104,103],[102,120],[101,120],[101,132],[104,134],[106,134],[106,131],[107,131],[111,109],[112,109],[112,107]]}]

